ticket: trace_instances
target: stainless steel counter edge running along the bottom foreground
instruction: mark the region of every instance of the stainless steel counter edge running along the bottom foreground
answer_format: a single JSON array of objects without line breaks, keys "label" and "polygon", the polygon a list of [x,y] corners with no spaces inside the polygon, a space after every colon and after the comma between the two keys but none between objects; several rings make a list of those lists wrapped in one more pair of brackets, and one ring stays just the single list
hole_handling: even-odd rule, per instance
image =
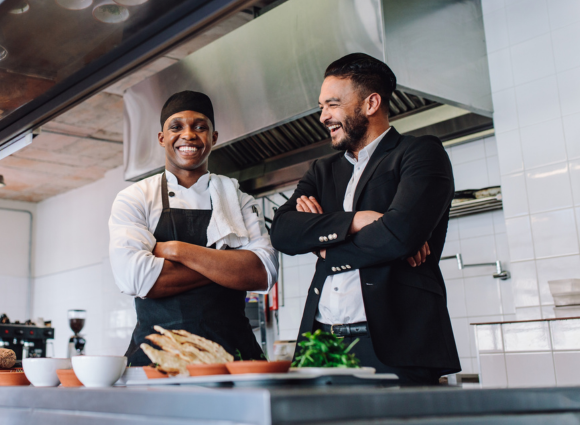
[{"label": "stainless steel counter edge running along the bottom foreground", "polygon": [[0,387],[0,423],[129,424],[569,424],[580,387],[463,390],[193,386]]}]

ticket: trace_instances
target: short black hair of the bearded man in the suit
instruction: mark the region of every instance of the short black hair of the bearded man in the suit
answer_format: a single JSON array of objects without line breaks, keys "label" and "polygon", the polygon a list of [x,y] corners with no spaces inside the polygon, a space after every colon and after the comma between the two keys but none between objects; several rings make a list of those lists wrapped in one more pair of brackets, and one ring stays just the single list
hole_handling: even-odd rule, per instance
[{"label": "short black hair of the bearded man in the suit", "polygon": [[361,98],[378,93],[383,111],[389,111],[389,99],[397,87],[397,77],[389,66],[364,53],[351,53],[332,62],[324,72],[324,78],[350,79]]}]

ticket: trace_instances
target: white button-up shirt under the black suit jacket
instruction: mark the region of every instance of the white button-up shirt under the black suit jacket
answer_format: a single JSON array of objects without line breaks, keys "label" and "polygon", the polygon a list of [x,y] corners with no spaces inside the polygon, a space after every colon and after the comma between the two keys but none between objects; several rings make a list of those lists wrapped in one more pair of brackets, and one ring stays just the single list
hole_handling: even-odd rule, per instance
[{"label": "white button-up shirt under the black suit jacket", "polygon": [[[354,192],[360,177],[379,142],[390,129],[389,127],[387,131],[361,149],[358,154],[358,160],[352,153],[348,151],[344,153],[346,159],[354,165],[352,177],[346,187],[342,204],[345,211],[352,211]],[[326,278],[322,287],[322,294],[320,294],[316,320],[328,325],[367,321],[358,270],[331,275]]]}]

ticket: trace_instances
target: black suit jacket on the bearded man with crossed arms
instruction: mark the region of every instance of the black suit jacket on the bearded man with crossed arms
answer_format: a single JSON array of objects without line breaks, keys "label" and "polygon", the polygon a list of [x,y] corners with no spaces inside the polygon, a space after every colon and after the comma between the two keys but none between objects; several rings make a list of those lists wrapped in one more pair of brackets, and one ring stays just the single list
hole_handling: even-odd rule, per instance
[{"label": "black suit jacket on the bearded man with crossed arms", "polygon": [[[401,136],[391,128],[360,178],[353,212],[345,212],[352,171],[343,153],[316,160],[274,216],[272,244],[281,252],[327,250],[326,260],[316,264],[299,341],[304,332],[312,331],[326,277],[358,269],[377,357],[388,366],[459,371],[439,269],[454,193],[451,163],[441,141],[432,136]],[[302,195],[314,196],[324,213],[297,212],[296,199]],[[364,210],[384,212],[384,216],[349,236],[355,212]],[[328,238],[334,234],[337,238]],[[406,259],[425,241],[431,255],[413,268]]]}]

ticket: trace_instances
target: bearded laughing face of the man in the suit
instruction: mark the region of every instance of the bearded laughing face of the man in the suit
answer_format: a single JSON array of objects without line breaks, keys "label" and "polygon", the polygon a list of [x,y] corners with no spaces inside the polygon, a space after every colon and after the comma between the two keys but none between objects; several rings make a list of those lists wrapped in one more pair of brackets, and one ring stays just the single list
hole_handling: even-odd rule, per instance
[{"label": "bearded laughing face of the man in the suit", "polygon": [[324,79],[318,99],[320,122],[330,131],[334,149],[357,152],[365,145],[369,120],[364,102],[349,78]]}]

